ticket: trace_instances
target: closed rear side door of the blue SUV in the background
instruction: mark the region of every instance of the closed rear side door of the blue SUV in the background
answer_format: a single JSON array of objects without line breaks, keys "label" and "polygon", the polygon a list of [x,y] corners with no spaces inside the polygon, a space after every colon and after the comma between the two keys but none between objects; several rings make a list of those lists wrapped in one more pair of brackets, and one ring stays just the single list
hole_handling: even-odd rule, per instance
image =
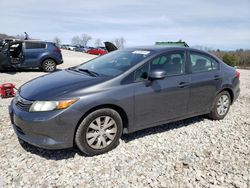
[{"label": "closed rear side door of the blue SUV in the background", "polygon": [[25,41],[23,48],[24,61],[22,67],[36,67],[40,65],[40,56],[46,51],[46,43]]}]

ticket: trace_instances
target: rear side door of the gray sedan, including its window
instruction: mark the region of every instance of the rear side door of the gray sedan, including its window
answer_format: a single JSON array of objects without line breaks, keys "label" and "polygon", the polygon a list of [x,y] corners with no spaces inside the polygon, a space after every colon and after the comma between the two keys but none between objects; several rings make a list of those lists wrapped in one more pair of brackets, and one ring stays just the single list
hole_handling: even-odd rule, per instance
[{"label": "rear side door of the gray sedan, including its window", "polygon": [[196,51],[189,52],[189,63],[191,84],[188,113],[207,113],[222,83],[219,63],[212,56]]}]

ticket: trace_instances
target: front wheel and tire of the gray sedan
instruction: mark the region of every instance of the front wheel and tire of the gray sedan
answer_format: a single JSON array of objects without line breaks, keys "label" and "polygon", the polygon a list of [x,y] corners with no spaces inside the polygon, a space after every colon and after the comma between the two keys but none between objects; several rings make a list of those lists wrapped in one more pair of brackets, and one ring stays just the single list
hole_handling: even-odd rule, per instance
[{"label": "front wheel and tire of the gray sedan", "polygon": [[110,108],[99,109],[82,120],[75,134],[75,144],[89,156],[106,153],[119,144],[122,129],[118,112]]}]

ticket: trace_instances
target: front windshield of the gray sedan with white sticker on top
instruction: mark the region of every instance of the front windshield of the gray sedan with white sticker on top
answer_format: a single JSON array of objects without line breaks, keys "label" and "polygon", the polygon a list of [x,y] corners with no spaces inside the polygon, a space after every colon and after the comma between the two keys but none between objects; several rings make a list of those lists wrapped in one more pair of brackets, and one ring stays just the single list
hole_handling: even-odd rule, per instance
[{"label": "front windshield of the gray sedan with white sticker on top", "polygon": [[95,58],[77,67],[97,75],[115,77],[120,75],[148,57],[151,51],[146,50],[116,50],[107,55]]}]

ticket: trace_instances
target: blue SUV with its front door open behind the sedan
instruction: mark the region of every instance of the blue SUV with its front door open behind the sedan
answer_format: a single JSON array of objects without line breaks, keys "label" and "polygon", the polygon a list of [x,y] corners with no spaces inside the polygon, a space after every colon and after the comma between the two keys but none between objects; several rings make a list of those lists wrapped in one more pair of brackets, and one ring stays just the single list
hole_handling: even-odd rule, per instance
[{"label": "blue SUV with its front door open behind the sedan", "polygon": [[63,63],[61,50],[51,42],[11,41],[0,51],[0,70],[10,68],[40,68],[53,72]]}]

